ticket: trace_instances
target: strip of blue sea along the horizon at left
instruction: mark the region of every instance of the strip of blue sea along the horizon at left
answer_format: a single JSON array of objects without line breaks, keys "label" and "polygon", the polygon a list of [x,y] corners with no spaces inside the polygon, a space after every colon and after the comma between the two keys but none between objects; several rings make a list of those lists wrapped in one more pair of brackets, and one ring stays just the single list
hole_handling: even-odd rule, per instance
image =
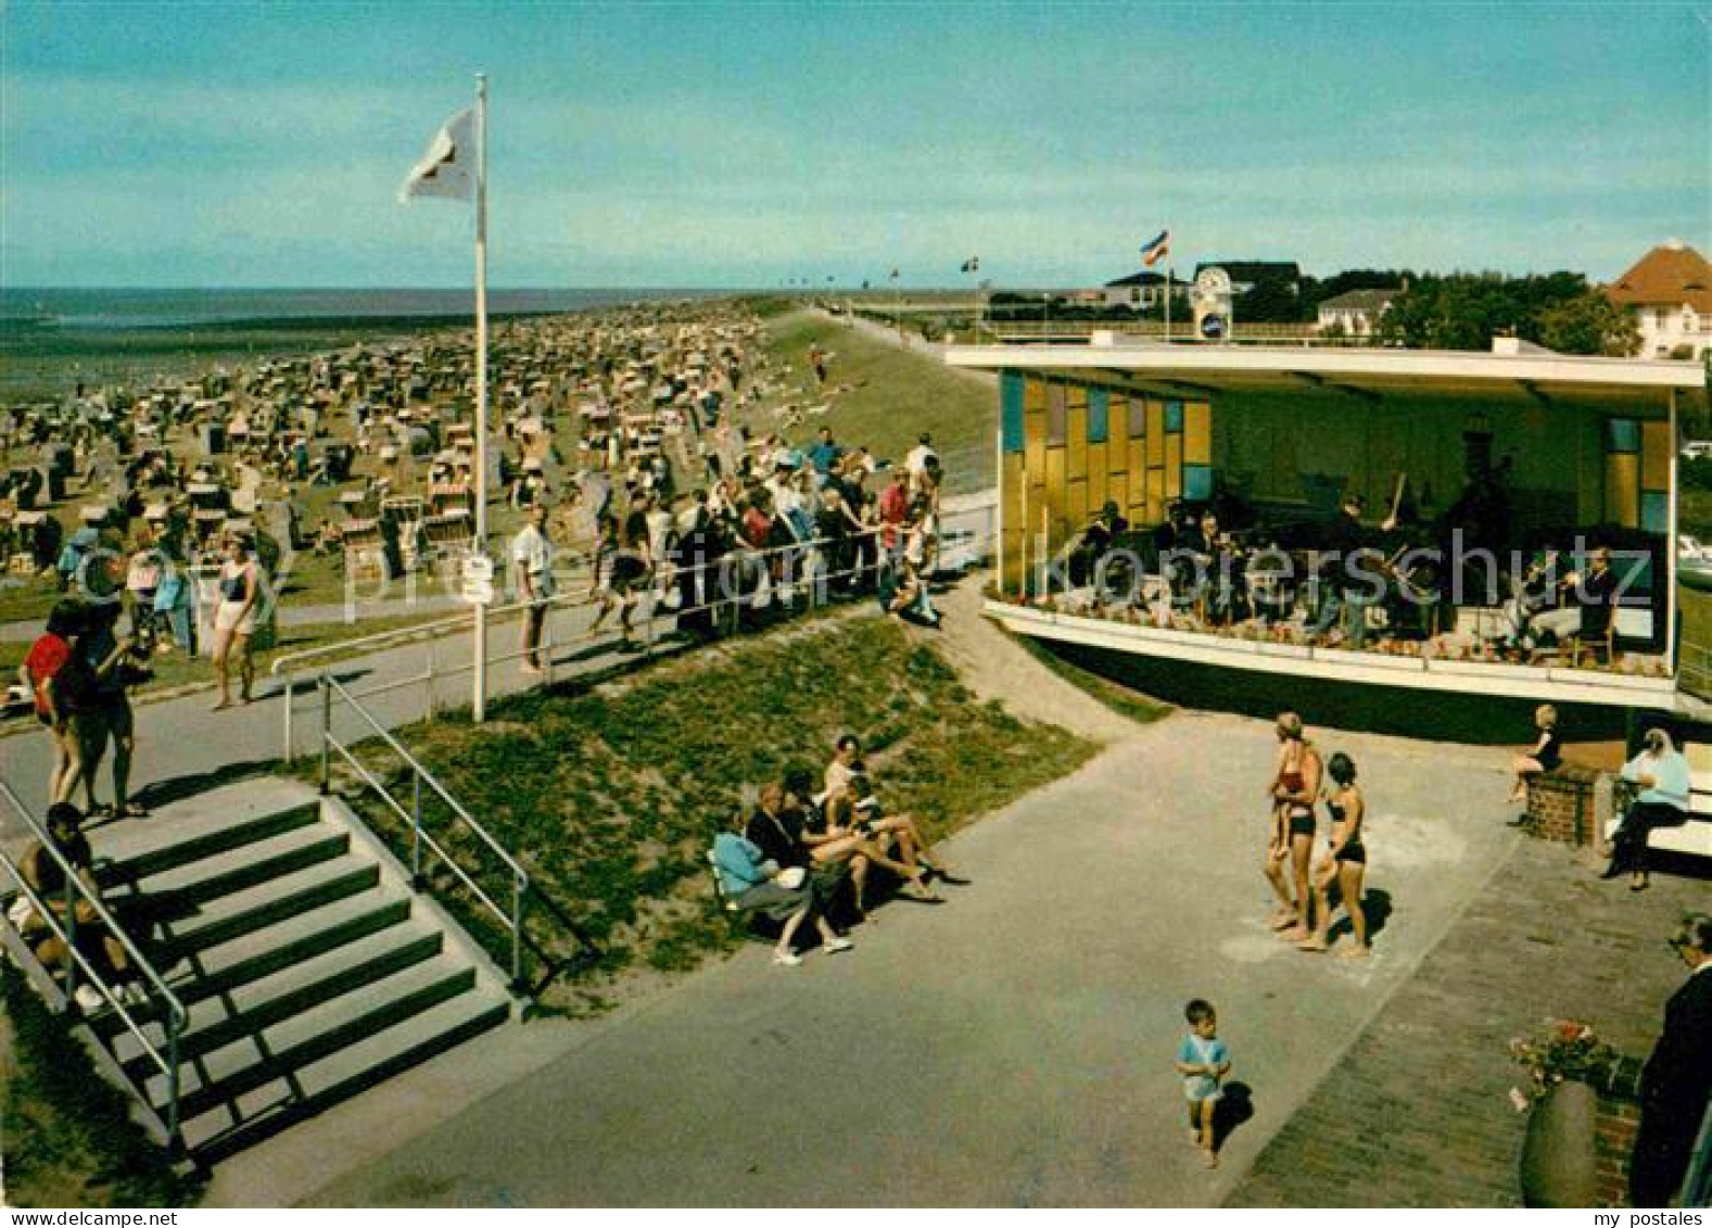
[{"label": "strip of blue sea along the horizon at left", "polygon": [[[717,289],[490,289],[491,315],[582,312],[637,301],[712,298]],[[360,320],[474,313],[473,289],[67,289],[0,286],[7,329],[193,329],[274,320]]]}]

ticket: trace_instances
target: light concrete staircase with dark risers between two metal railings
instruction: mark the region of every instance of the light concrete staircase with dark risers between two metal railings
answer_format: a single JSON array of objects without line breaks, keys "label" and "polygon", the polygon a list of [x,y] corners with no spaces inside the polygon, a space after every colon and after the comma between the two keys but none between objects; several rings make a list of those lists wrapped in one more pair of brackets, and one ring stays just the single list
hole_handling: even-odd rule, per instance
[{"label": "light concrete staircase with dark risers between two metal railings", "polygon": [[[512,1014],[484,954],[411,892],[402,868],[339,803],[305,784],[229,784],[92,827],[89,838],[106,897],[122,920],[128,897],[149,916],[144,949],[188,1012],[178,1112],[202,1163]],[[140,1017],[164,1045],[159,1014],[151,1004]],[[113,1010],[87,1028],[164,1118],[168,1081],[137,1036]]]}]

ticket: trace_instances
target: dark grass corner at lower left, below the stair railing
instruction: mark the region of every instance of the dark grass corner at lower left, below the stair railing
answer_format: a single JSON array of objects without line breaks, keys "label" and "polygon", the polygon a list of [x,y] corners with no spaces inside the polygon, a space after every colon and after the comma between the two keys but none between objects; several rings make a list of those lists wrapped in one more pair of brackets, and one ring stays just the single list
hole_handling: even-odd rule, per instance
[{"label": "dark grass corner at lower left, below the stair railing", "polygon": [[[130,1120],[130,1101],[103,1081],[63,1019],[21,973],[0,964],[12,1028],[0,1079],[3,1204],[15,1207],[180,1207],[200,1183]],[[0,1043],[0,1057],[7,1057]]]}]

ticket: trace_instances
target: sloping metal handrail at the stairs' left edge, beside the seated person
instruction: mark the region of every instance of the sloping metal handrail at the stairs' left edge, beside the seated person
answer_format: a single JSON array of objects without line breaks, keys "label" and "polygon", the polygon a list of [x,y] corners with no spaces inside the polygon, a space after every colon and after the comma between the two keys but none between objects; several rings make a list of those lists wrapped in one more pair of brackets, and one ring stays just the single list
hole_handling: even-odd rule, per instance
[{"label": "sloping metal handrail at the stairs' left edge, beside the seated person", "polygon": [[[29,885],[29,882],[24,877],[22,867],[14,863],[10,856],[0,851],[0,865],[5,865],[7,872],[17,882],[19,891],[29,901],[31,909],[34,909],[34,915],[41,918],[41,921],[48,927],[53,937],[56,937],[60,942],[65,944],[67,951],[65,990],[63,990],[65,998],[72,1000],[72,995],[77,992],[77,971],[82,969],[87,981],[101,993],[101,997],[108,1000],[108,1005],[113,1007],[113,1010],[118,1014],[120,1021],[125,1024],[130,1034],[137,1038],[137,1043],[142,1045],[142,1050],[149,1055],[154,1065],[159,1067],[161,1074],[166,1076],[166,1137],[171,1146],[176,1146],[180,1142],[178,1038],[183,1033],[185,1022],[190,1017],[188,1012],[185,1010],[185,1004],[180,1002],[178,995],[173,993],[171,988],[168,988],[166,980],[154,968],[149,957],[142,954],[137,944],[132,942],[130,935],[125,933],[125,928],[118,923],[118,920],[115,920],[113,913],[108,911],[106,904],[101,903],[99,894],[96,894],[89,885],[84,884],[82,879],[79,879],[77,867],[74,867],[65,858],[65,855],[60,853],[60,849],[55,846],[48,832],[31,817],[29,810],[24,808],[24,803],[19,800],[17,793],[14,793],[5,781],[0,781],[0,796],[3,796],[7,803],[12,807],[12,810],[15,810],[17,815],[24,820],[24,826],[41,844],[43,851],[46,851],[46,855],[53,858],[65,882],[63,887],[65,897],[62,901],[65,916],[62,925],[62,918],[56,916],[53,908],[50,908],[43,901],[43,897],[38,896],[36,891]],[[140,976],[151,981],[154,992],[159,995],[163,1005],[166,1007],[164,1055],[161,1053],[159,1046],[154,1041],[151,1041],[149,1036],[144,1033],[142,1024],[132,1019],[127,1004],[118,997],[118,993],[113,992],[113,987],[108,985],[106,980],[103,980],[101,973],[96,971],[94,964],[82,954],[82,951],[77,949],[79,901],[89,904],[89,909],[96,915],[96,920],[106,927],[106,932],[111,933],[113,939],[116,939],[118,944],[125,949],[125,954],[130,956],[132,968]],[[24,939],[24,933],[17,927],[14,927],[9,918],[5,918],[3,923],[12,933],[17,935],[19,951],[26,952],[27,957],[36,964],[36,969],[41,973],[41,976],[51,983],[51,973],[39,959],[34,957],[29,942]]]}]

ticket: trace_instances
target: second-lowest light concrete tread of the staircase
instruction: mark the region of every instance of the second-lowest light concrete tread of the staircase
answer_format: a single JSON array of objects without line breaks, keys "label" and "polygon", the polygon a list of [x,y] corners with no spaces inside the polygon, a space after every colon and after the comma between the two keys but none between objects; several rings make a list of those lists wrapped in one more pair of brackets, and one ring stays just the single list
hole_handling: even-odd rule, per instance
[{"label": "second-lowest light concrete tread of the staircase", "polygon": [[[394,925],[354,942],[282,966],[267,976],[209,995],[188,1007],[185,1029],[178,1036],[181,1062],[253,1036],[294,1014],[354,988],[433,959],[445,945],[438,930],[418,921]],[[144,1036],[164,1052],[166,1026],[156,1019],[144,1026]],[[111,1036],[113,1057],[132,1081],[156,1072],[154,1058],[123,1026]]]}]

